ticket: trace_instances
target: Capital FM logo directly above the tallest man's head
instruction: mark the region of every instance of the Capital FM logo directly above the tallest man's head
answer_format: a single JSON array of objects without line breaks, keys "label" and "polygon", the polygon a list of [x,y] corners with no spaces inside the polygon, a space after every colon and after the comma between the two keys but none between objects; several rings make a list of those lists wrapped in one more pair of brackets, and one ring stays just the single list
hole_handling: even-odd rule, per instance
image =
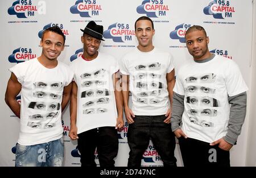
[{"label": "Capital FM logo directly above the tallest man's head", "polygon": [[142,4],[137,7],[137,13],[146,14],[152,18],[166,16],[167,11],[169,7],[164,4],[163,0],[143,0]]}]

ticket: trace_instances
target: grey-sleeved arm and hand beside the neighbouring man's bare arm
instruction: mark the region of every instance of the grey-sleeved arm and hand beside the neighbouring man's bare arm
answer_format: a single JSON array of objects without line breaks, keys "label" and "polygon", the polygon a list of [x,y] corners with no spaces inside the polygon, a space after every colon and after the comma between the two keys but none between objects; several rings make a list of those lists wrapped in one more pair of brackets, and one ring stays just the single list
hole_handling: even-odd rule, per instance
[{"label": "grey-sleeved arm and hand beside the neighbouring man's bare arm", "polygon": [[184,112],[184,95],[180,95],[174,92],[173,103],[172,103],[172,117],[171,117],[171,128],[177,138],[187,135],[180,129],[181,117]]}]

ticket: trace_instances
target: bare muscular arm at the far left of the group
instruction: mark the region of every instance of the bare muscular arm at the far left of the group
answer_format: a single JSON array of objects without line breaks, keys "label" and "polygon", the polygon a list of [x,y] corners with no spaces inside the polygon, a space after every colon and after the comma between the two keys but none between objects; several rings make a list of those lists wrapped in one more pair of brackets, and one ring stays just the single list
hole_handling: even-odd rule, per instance
[{"label": "bare muscular arm at the far left of the group", "polygon": [[20,118],[20,105],[16,100],[16,96],[19,94],[21,89],[22,85],[12,72],[5,92],[5,102],[18,118]]}]

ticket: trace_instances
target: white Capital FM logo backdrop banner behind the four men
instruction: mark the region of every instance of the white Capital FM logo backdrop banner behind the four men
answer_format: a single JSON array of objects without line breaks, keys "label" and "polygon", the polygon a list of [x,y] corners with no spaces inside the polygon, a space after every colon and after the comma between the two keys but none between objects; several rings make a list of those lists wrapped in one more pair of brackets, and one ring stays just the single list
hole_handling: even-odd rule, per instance
[{"label": "white Capital FM logo backdrop banner behind the four men", "polygon": [[[100,51],[118,60],[137,47],[134,22],[140,16],[150,17],[155,26],[153,43],[174,56],[175,70],[192,60],[184,34],[194,24],[205,28],[210,39],[209,49],[217,55],[228,57],[240,66],[249,85],[253,5],[251,0],[3,0],[1,11],[1,119],[0,119],[0,166],[14,166],[15,144],[19,134],[19,118],[4,102],[9,68],[17,63],[41,55],[40,37],[47,27],[59,26],[66,36],[65,49],[59,60],[66,64],[82,54],[81,29],[90,20],[104,26],[105,42]],[[20,101],[20,95],[16,97]],[[69,139],[69,105],[62,117],[65,141],[64,166],[80,166],[77,142]],[[248,118],[246,119],[247,122]],[[118,130],[119,151],[116,166],[126,166],[129,157],[127,144],[128,123]],[[237,146],[232,148],[232,165],[244,165],[246,155],[246,123]],[[179,144],[175,156],[182,166]],[[97,150],[95,159],[98,164]],[[143,166],[162,166],[154,144],[150,142],[142,158]]]}]

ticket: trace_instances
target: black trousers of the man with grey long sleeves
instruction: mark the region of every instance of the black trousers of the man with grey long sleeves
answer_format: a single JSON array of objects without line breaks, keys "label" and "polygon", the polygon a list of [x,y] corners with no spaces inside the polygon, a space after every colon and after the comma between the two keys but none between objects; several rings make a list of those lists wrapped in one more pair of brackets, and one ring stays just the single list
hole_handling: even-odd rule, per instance
[{"label": "black trousers of the man with grey long sleeves", "polygon": [[180,151],[185,167],[230,167],[229,151],[221,150],[218,145],[200,140],[179,138]]}]

